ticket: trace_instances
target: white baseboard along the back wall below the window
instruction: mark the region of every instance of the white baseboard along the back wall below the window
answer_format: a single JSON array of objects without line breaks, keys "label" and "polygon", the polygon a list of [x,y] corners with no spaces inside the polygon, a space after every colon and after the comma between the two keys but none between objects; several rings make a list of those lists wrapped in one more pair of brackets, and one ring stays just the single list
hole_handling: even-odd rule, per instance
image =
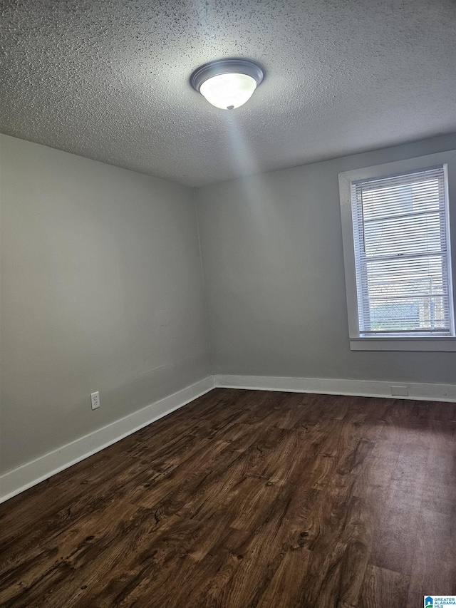
[{"label": "white baseboard along the back wall below the window", "polygon": [[[408,396],[392,396],[391,385],[408,387]],[[282,376],[215,376],[219,388],[250,388],[262,391],[291,393],[322,393],[360,397],[393,397],[420,401],[456,402],[456,384],[430,384],[415,382],[386,382],[375,380],[343,380],[338,378],[286,378]]]}]

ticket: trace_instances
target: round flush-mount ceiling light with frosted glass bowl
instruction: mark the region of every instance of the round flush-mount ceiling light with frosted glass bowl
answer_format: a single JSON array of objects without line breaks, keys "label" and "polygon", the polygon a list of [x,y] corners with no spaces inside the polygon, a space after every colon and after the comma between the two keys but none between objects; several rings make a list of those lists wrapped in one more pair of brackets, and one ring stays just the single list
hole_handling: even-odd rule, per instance
[{"label": "round flush-mount ceiling light with frosted glass bowl", "polygon": [[192,87],[222,110],[234,110],[249,101],[262,80],[261,68],[247,59],[211,61],[190,76]]}]

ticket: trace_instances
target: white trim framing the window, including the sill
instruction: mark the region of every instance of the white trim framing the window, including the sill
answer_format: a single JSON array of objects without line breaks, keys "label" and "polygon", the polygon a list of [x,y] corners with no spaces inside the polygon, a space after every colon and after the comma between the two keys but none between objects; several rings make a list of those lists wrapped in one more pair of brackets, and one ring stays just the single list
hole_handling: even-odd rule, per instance
[{"label": "white trim framing the window, including the sill", "polygon": [[[456,150],[430,154],[407,160],[397,160],[394,163],[375,165],[363,169],[356,169],[339,173],[339,192],[341,196],[343,259],[345,264],[348,333],[350,349],[352,351],[456,351],[456,337],[368,337],[362,338],[358,328],[358,297],[356,293],[356,269],[353,243],[353,220],[351,213],[351,182],[357,180],[370,180],[375,177],[388,177],[403,172],[413,172],[433,165],[447,165],[448,168],[448,200],[450,202],[450,255],[452,256],[452,272],[455,272],[455,257],[452,251],[456,250],[456,222],[454,201],[456,200]],[[453,201],[453,213],[451,205]],[[451,245],[454,244],[454,247]],[[452,279],[450,276],[450,288]],[[453,307],[456,294],[453,293]],[[453,314],[455,311],[453,310]]]}]

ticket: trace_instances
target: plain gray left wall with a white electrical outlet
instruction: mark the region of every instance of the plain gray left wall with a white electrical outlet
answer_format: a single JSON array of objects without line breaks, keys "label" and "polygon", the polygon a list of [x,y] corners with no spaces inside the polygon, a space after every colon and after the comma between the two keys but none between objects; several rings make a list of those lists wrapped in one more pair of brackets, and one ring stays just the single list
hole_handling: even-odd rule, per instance
[{"label": "plain gray left wall with a white electrical outlet", "polygon": [[0,144],[4,472],[211,366],[192,190]]}]

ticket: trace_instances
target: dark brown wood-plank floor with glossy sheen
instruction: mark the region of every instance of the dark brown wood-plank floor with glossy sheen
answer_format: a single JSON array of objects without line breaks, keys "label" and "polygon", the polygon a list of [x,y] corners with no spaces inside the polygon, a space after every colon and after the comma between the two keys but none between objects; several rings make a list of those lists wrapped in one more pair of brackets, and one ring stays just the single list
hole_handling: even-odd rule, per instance
[{"label": "dark brown wood-plank floor with glossy sheen", "polygon": [[215,389],[0,505],[0,605],[456,594],[456,404]]}]

